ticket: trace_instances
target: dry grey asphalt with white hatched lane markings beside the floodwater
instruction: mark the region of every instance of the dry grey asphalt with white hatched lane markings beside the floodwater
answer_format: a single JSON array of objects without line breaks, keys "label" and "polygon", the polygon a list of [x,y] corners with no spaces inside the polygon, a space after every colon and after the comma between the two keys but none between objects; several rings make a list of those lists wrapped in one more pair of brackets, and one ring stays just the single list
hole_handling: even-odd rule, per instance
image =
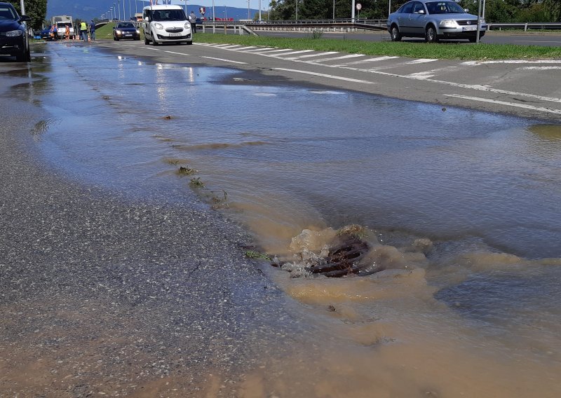
[{"label": "dry grey asphalt with white hatched lane markings beside the floodwater", "polygon": [[341,90],[561,121],[561,60],[462,61],[227,46],[102,42],[122,55],[259,72]]}]

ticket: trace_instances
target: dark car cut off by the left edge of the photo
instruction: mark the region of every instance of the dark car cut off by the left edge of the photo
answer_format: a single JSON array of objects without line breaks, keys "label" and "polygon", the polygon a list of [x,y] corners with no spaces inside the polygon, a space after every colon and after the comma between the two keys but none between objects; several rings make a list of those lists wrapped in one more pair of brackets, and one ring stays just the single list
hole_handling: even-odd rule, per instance
[{"label": "dark car cut off by the left edge of the photo", "polygon": [[18,62],[29,62],[29,35],[22,22],[26,15],[18,15],[10,3],[0,3],[0,54],[15,56]]}]

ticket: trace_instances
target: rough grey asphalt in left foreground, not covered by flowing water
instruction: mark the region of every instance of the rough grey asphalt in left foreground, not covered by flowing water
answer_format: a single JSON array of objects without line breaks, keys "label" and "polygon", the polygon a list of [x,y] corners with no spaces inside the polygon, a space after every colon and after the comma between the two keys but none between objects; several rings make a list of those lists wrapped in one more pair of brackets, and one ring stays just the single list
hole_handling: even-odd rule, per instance
[{"label": "rough grey asphalt in left foreground, not covered by flowing water", "polygon": [[240,226],[194,193],[130,198],[42,163],[41,104],[0,68],[1,397],[198,397],[210,373],[230,396],[295,343]]}]

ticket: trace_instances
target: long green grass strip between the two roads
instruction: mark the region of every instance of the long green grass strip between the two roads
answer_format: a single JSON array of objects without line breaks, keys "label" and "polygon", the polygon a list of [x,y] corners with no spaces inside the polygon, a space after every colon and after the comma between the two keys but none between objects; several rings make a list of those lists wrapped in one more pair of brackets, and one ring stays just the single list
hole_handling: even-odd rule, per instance
[{"label": "long green grass strip between the two roads", "polygon": [[266,36],[197,33],[198,43],[230,43],[243,46],[292,48],[293,50],[338,51],[350,54],[391,55],[440,60],[510,60],[561,58],[561,47],[518,46],[487,43],[405,43],[353,39],[288,39]]}]

